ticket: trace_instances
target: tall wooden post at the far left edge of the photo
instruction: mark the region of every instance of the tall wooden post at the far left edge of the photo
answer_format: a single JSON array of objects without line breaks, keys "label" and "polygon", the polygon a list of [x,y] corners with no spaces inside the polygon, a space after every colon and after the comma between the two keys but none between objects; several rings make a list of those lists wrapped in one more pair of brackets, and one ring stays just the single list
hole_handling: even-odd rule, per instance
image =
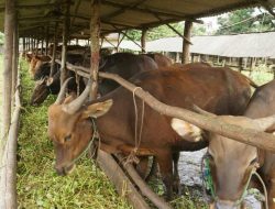
[{"label": "tall wooden post at the far left edge of the photo", "polygon": [[13,53],[13,35],[15,28],[15,0],[6,0],[4,10],[4,59],[3,59],[3,81],[2,81],[2,128],[0,138],[0,167],[1,170],[1,188],[0,188],[0,208],[18,208],[16,206],[16,185],[12,182],[7,180],[7,175],[13,174],[2,173],[8,169],[9,165],[6,164],[3,158],[4,150],[7,147],[7,141],[9,143],[8,132],[11,124],[11,101],[12,101],[12,59]]}]

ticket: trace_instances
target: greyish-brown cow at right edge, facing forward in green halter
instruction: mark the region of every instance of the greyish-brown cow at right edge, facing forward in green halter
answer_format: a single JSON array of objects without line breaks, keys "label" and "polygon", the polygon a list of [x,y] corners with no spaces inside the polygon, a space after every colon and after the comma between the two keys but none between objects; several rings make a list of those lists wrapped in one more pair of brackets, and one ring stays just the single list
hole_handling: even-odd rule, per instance
[{"label": "greyish-brown cow at right edge, facing forward in green halter", "polygon": [[[199,110],[204,114],[205,111]],[[275,80],[257,88],[251,98],[243,117],[218,117],[224,122],[258,131],[275,131]],[[270,118],[268,118],[270,117]],[[182,121],[182,125],[185,122]],[[207,158],[213,182],[215,199],[212,208],[238,209],[242,202],[246,187],[263,191],[262,185],[254,176],[257,172],[264,180],[268,194],[268,208],[275,209],[275,154],[246,145],[212,132],[208,134],[209,147]],[[261,140],[261,139],[258,139]],[[250,182],[251,178],[251,182]]]}]

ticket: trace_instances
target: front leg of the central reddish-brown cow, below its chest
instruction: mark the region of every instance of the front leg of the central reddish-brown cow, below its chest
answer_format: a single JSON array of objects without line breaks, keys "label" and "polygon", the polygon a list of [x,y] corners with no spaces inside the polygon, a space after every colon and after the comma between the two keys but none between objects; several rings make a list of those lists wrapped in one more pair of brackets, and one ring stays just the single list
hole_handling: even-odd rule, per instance
[{"label": "front leg of the central reddish-brown cow, below its chest", "polygon": [[168,151],[160,151],[156,155],[156,161],[158,163],[163,183],[166,187],[167,200],[173,197],[173,156]]}]

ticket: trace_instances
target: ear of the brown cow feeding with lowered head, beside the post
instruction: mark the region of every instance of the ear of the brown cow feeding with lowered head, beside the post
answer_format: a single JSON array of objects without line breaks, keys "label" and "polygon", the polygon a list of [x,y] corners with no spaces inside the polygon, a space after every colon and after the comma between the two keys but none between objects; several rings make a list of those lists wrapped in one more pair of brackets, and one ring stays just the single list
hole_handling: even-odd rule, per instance
[{"label": "ear of the brown cow feeding with lowered head, beside the post", "polygon": [[82,119],[98,118],[107,113],[112,107],[112,99],[103,102],[92,103],[81,113]]}]

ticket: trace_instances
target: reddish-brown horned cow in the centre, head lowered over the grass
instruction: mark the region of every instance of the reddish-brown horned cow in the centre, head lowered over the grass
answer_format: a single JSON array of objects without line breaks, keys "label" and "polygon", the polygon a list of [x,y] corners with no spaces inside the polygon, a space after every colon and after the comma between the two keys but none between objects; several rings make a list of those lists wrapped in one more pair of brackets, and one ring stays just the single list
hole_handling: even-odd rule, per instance
[{"label": "reddish-brown horned cow in the centre, head lowered over the grass", "polygon": [[[131,81],[167,105],[191,109],[196,103],[217,114],[243,113],[251,97],[252,84],[229,68],[148,70],[138,74]],[[62,89],[65,88],[66,82]],[[200,150],[208,142],[197,139],[199,142],[190,143],[183,140],[170,128],[169,117],[160,114],[148,106],[143,108],[134,92],[123,87],[85,103],[88,95],[89,85],[77,99],[64,99],[64,90],[61,90],[55,103],[48,108],[48,136],[55,147],[56,172],[59,175],[68,174],[97,132],[100,148],[109,153],[156,156],[169,199],[173,185],[178,186],[179,179],[176,166],[173,175],[173,158],[178,158],[179,151]],[[141,128],[141,124],[144,125]],[[185,138],[200,135],[196,129],[193,130]],[[141,135],[135,135],[135,132]]]}]

